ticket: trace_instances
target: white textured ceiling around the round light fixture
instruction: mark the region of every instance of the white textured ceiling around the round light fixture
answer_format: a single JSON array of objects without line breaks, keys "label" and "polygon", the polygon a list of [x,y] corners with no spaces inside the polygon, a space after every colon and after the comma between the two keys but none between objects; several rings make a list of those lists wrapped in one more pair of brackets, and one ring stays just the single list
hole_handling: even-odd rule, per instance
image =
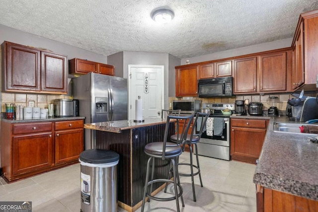
[{"label": "white textured ceiling around the round light fixture", "polygon": [[[174,11],[157,24],[157,7]],[[293,37],[317,0],[1,0],[0,24],[105,56],[195,57]]]}]

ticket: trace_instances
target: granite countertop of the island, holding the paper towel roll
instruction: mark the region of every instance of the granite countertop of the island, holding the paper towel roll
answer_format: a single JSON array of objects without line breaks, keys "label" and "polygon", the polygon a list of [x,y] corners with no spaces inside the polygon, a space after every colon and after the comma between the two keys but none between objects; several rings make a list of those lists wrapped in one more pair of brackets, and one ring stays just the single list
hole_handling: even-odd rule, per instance
[{"label": "granite countertop of the island, holding the paper towel roll", "polygon": [[[170,122],[173,122],[171,120]],[[97,122],[84,124],[84,128],[91,130],[107,131],[112,133],[121,133],[122,130],[133,128],[147,127],[152,125],[165,124],[166,119],[161,118],[145,118],[144,122],[134,122],[134,120],[120,120],[113,122]]]}]

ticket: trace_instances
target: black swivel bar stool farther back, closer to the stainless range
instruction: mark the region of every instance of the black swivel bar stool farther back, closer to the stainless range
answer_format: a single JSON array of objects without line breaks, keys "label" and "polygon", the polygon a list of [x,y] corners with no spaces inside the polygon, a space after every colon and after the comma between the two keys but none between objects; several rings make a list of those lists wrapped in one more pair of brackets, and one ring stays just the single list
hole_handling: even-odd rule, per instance
[{"label": "black swivel bar stool farther back, closer to the stainless range", "polygon": [[[192,132],[191,135],[187,136],[185,145],[189,146],[190,149],[190,163],[178,163],[179,165],[188,165],[190,166],[191,169],[191,173],[187,174],[187,173],[179,173],[180,176],[186,176],[186,177],[191,177],[191,181],[192,181],[192,193],[193,193],[193,201],[196,202],[196,197],[195,197],[195,189],[194,189],[194,176],[195,175],[199,175],[199,179],[200,179],[200,184],[201,187],[203,187],[202,184],[202,178],[201,178],[201,171],[200,171],[200,164],[199,164],[199,157],[198,157],[198,145],[197,143],[200,142],[201,136],[202,136],[202,132],[205,128],[205,124],[208,120],[210,113],[199,113],[197,112],[196,117],[195,117],[195,121],[192,127]],[[172,135],[170,137],[172,142],[179,142],[178,141],[178,136],[177,135]],[[197,160],[197,165],[193,164],[193,160],[192,160],[192,153],[193,153],[193,149],[192,149],[192,144],[195,145],[195,149],[196,149],[196,160]],[[185,147],[185,145],[183,146],[183,148]],[[193,173],[193,168],[196,168],[196,172]],[[169,172],[170,173],[170,172]],[[167,189],[167,185],[165,186],[164,192],[166,192]]]}]

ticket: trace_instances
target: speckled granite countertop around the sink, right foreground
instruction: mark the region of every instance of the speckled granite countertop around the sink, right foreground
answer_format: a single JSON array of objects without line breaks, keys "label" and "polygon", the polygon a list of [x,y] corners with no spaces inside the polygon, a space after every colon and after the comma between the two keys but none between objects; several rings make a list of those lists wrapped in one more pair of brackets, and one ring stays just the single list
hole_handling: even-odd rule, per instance
[{"label": "speckled granite countertop around the sink, right foreground", "polygon": [[275,132],[275,122],[297,123],[286,116],[270,119],[253,182],[318,201],[318,143],[308,140],[316,135]]}]

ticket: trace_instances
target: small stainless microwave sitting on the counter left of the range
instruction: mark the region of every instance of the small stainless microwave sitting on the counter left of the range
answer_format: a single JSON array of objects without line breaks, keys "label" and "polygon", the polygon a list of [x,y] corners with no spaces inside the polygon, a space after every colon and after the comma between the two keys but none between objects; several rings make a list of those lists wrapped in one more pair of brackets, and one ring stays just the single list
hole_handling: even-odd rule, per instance
[{"label": "small stainless microwave sitting on the counter left of the range", "polygon": [[181,114],[197,113],[200,112],[201,102],[197,99],[172,100],[172,110],[181,110]]}]

